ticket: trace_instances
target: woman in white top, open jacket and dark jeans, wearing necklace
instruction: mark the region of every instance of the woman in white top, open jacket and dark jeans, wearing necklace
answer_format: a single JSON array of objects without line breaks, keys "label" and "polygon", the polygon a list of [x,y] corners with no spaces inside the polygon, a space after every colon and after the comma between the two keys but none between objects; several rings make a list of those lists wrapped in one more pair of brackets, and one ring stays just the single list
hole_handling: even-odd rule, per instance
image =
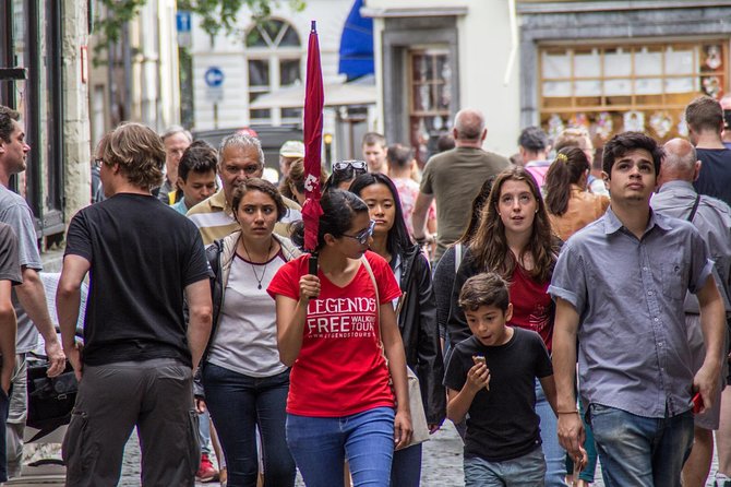
[{"label": "woman in white top, open jacket and dark jeans, wearing necklace", "polygon": [[215,270],[214,326],[202,378],[206,405],[223,446],[229,486],[255,486],[256,429],[265,486],[293,486],[296,467],[285,439],[289,368],[279,361],[275,304],[266,286],[301,252],[273,234],[287,207],[268,181],[251,178],[233,190],[240,230],[207,251]]}]

